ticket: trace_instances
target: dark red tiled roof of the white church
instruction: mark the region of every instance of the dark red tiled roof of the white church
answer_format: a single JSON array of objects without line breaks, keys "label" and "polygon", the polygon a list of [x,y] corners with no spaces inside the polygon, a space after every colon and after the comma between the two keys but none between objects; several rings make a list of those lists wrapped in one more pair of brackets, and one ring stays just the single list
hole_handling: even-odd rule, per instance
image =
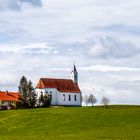
[{"label": "dark red tiled roof of the white church", "polygon": [[81,93],[78,85],[71,79],[40,78],[36,88],[56,88],[59,92]]}]

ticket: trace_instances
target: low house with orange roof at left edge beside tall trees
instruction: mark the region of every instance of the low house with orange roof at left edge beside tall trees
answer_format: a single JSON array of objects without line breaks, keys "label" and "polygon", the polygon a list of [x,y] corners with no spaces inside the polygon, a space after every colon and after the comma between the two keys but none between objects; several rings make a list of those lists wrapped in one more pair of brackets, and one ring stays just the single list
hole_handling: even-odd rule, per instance
[{"label": "low house with orange roof at left edge beside tall trees", "polygon": [[0,91],[0,109],[10,109],[16,107],[16,102],[19,101],[17,92]]}]

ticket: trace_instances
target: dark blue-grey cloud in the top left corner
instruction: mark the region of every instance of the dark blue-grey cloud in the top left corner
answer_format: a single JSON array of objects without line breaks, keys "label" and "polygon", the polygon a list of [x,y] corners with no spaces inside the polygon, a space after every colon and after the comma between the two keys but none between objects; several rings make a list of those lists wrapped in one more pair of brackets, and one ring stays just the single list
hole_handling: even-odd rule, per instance
[{"label": "dark blue-grey cloud in the top left corner", "polygon": [[0,0],[0,10],[20,10],[24,4],[40,7],[40,0]]}]

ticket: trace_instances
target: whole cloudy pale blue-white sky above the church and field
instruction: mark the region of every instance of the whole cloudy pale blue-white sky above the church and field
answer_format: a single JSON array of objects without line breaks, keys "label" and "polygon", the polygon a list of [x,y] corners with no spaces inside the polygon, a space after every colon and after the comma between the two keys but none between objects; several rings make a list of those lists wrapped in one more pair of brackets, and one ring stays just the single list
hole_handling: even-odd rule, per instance
[{"label": "whole cloudy pale blue-white sky above the church and field", "polygon": [[0,90],[70,78],[98,104],[140,104],[139,0],[0,0]]}]

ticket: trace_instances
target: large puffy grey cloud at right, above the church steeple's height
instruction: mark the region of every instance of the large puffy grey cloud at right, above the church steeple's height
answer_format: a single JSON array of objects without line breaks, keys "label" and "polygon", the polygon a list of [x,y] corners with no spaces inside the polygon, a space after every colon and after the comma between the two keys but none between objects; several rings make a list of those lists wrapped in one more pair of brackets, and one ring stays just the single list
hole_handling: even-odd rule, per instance
[{"label": "large puffy grey cloud at right, above the church steeple's height", "polygon": [[138,55],[140,48],[130,41],[121,41],[118,38],[105,37],[98,40],[89,40],[87,55],[95,58],[128,58]]}]

